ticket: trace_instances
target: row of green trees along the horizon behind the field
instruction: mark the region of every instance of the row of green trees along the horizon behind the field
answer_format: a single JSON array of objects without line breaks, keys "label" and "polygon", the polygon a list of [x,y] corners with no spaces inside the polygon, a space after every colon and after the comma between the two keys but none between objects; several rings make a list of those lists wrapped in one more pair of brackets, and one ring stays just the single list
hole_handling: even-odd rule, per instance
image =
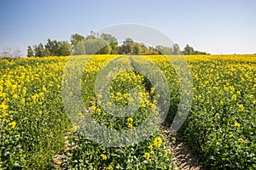
[{"label": "row of green trees along the horizon behind the field", "polygon": [[95,31],[90,31],[86,37],[73,34],[68,41],[57,41],[48,39],[45,44],[39,44],[27,47],[27,56],[67,56],[81,54],[207,54],[194,50],[189,44],[183,49],[179,48],[177,43],[172,47],[157,45],[156,47],[147,47],[143,43],[134,42],[130,37],[119,45],[116,37],[111,34],[102,33],[99,35]]}]

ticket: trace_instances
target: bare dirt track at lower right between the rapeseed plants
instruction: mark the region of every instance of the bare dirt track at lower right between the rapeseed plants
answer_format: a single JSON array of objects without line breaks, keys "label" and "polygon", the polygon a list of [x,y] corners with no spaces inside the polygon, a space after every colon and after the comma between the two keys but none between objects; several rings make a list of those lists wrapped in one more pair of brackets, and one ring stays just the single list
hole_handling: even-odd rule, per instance
[{"label": "bare dirt track at lower right between the rapeseed plants", "polygon": [[[199,157],[192,154],[187,144],[184,144],[177,136],[170,136],[170,131],[166,127],[161,127],[165,139],[169,141],[169,150],[173,154],[172,161],[182,170],[203,170],[199,162]],[[175,138],[175,139],[174,139]]]}]

